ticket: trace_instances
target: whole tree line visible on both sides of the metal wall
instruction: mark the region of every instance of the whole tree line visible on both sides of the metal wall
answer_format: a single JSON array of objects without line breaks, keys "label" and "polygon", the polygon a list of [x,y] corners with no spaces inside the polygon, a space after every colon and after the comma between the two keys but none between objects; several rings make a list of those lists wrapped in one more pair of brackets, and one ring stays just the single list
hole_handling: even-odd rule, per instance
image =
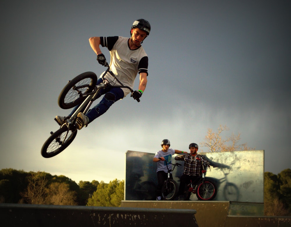
[{"label": "whole tree line visible on both sides of the metal wall", "polygon": [[[77,184],[63,175],[0,171],[0,203],[119,207],[123,199],[124,180]],[[267,216],[291,216],[291,169],[264,173],[264,207]]]}]

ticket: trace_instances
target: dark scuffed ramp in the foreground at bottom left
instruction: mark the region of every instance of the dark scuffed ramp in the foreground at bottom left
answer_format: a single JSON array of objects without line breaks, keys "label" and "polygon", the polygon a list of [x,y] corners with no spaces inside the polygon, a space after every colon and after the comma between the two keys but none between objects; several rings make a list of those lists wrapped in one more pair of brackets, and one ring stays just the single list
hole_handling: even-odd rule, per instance
[{"label": "dark scuffed ramp in the foreground at bottom left", "polygon": [[0,203],[1,226],[191,226],[196,210]]}]

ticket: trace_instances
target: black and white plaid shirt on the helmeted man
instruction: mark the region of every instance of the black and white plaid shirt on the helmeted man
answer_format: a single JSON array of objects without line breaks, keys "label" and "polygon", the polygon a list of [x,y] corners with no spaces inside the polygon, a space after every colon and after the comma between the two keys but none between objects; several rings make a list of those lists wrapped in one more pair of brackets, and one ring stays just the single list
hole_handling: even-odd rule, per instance
[{"label": "black and white plaid shirt on the helmeted man", "polygon": [[[196,158],[200,158],[201,160],[198,160]],[[207,161],[202,155],[195,155],[192,156],[190,153],[187,153],[185,155],[177,155],[175,157],[175,160],[178,161],[184,161],[184,172],[183,174],[189,175],[189,176],[199,176],[201,175],[202,171],[202,163],[204,166],[208,166],[210,163]]]}]

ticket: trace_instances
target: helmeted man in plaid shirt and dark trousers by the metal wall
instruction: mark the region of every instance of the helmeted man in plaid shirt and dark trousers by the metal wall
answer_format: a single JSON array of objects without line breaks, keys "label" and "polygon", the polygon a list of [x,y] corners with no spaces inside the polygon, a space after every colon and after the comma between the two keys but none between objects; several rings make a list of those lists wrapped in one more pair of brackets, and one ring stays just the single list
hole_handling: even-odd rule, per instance
[{"label": "helmeted man in plaid shirt and dark trousers by the metal wall", "polygon": [[[184,161],[184,171],[180,178],[180,186],[178,191],[179,200],[184,199],[184,189],[187,182],[195,180],[196,177],[202,174],[202,162],[204,166],[209,166],[209,161],[206,160],[202,155],[197,154],[198,145],[196,143],[190,143],[190,153],[184,155],[177,155],[175,160]],[[199,158],[199,159],[196,159]]]}]

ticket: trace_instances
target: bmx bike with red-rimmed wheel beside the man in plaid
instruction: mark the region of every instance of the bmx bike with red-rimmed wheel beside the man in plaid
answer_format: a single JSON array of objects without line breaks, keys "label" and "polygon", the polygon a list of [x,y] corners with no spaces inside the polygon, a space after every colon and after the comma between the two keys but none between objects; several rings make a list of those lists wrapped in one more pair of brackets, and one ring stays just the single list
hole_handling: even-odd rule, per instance
[{"label": "bmx bike with red-rimmed wheel beside the man in plaid", "polygon": [[[199,158],[196,158],[201,160]],[[213,200],[217,194],[217,186],[212,180],[205,178],[206,170],[202,162],[202,174],[199,175],[193,182],[185,186],[184,200],[189,200],[191,193],[196,194],[198,200]]]}]

